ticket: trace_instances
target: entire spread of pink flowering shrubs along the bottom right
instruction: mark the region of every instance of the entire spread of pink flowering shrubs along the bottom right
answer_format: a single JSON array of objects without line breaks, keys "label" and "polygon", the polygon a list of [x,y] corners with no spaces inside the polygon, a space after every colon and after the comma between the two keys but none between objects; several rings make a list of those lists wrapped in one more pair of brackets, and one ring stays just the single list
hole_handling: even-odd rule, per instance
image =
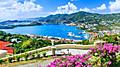
[{"label": "entire spread of pink flowering shrubs along the bottom right", "polygon": [[120,61],[117,60],[117,57],[120,56],[119,51],[120,46],[105,44],[91,49],[88,54],[55,59],[47,67],[109,67],[119,65]]}]

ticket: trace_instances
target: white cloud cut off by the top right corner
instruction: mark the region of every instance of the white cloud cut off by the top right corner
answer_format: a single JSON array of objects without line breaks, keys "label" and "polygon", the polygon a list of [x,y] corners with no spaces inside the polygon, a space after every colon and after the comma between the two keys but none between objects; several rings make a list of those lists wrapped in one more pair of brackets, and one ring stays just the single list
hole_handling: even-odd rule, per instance
[{"label": "white cloud cut off by the top right corner", "polygon": [[115,0],[114,2],[109,2],[109,9],[111,12],[120,12],[120,0]]}]

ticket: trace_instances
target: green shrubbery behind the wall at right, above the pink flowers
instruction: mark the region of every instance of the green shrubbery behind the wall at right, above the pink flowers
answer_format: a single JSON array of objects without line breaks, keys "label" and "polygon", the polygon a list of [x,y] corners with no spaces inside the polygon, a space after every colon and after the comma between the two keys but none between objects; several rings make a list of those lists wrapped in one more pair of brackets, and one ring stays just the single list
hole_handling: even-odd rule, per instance
[{"label": "green shrubbery behind the wall at right, above the pink flowers", "polygon": [[105,34],[102,37],[98,35],[97,37],[93,37],[93,40],[82,40],[80,42],[76,42],[76,44],[90,45],[90,44],[94,44],[94,42],[96,40],[102,40],[107,43],[120,45],[120,34],[114,34],[114,35],[106,35]]}]

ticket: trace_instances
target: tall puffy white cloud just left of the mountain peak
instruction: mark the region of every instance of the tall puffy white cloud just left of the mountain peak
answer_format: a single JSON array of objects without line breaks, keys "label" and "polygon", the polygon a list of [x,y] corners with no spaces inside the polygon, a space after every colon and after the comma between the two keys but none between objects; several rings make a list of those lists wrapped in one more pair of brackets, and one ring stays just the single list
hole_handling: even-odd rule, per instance
[{"label": "tall puffy white cloud just left of the mountain peak", "polygon": [[68,2],[68,4],[57,7],[55,12],[51,14],[71,14],[77,11],[77,7],[73,4]]}]

